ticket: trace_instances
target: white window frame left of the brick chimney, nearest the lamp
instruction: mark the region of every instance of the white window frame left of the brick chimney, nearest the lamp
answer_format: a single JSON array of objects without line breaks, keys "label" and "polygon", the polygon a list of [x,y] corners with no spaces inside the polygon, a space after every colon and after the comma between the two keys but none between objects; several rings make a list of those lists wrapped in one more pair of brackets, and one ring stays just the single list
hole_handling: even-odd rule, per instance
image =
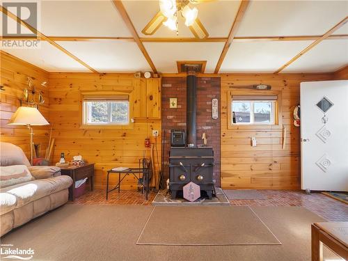
[{"label": "white window frame left of the brick chimney, nearest the lamp", "polygon": [[[88,119],[91,118],[91,111],[88,110],[88,102],[108,102],[108,122],[88,122]],[[127,113],[127,122],[112,122],[111,121],[111,102],[127,102],[128,104],[128,113]],[[93,98],[93,99],[84,99],[82,101],[82,122],[84,125],[102,125],[102,126],[125,126],[129,125],[130,123],[130,104],[129,99],[125,99],[124,97],[122,99],[118,99],[117,97],[114,99],[105,99],[103,97],[100,98]],[[88,115],[89,114],[89,115]]]}]

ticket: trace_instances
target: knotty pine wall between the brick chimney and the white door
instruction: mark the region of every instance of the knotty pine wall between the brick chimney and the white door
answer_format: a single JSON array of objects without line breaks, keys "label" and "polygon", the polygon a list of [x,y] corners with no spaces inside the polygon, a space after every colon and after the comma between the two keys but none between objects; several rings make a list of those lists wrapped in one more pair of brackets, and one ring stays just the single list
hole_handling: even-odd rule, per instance
[{"label": "knotty pine wall between the brick chimney and the white door", "polygon": [[[223,189],[299,189],[300,128],[293,125],[294,106],[300,102],[301,81],[331,80],[332,74],[221,75],[221,187]],[[270,84],[282,96],[280,129],[228,129],[228,93],[233,86]],[[238,88],[238,90],[240,90]],[[246,89],[247,90],[247,89]],[[251,146],[251,137],[258,145]]]}]

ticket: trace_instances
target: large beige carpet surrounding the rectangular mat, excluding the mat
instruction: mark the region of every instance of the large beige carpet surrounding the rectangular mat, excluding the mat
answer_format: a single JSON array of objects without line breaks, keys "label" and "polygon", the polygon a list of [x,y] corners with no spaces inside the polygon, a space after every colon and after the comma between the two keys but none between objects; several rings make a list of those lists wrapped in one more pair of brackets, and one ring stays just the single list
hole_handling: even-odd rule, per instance
[{"label": "large beige carpet surrounding the rectangular mat, excluding the mat", "polygon": [[310,260],[310,223],[324,219],[303,207],[251,208],[282,245],[136,245],[152,206],[72,204],[10,232],[1,238],[1,244],[31,247],[33,260],[45,261]]}]

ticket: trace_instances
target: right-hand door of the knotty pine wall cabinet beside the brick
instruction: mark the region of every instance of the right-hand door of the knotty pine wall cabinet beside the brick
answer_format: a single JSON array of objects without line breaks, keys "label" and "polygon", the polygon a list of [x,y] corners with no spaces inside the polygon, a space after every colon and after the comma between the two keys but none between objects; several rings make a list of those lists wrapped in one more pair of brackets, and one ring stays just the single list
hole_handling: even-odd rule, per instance
[{"label": "right-hand door of the knotty pine wall cabinet beside the brick", "polygon": [[146,116],[161,118],[161,79],[146,79]]}]

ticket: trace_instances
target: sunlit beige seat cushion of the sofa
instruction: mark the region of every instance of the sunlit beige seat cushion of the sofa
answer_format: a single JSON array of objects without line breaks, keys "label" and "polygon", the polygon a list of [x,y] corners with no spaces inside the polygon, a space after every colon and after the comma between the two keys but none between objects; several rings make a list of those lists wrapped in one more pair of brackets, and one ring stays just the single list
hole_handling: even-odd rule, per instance
[{"label": "sunlit beige seat cushion of the sofa", "polygon": [[72,178],[66,175],[52,177],[45,180],[32,180],[22,184],[1,189],[1,192],[10,193],[17,198],[15,208],[22,207],[28,203],[44,196],[68,189],[72,184]]}]

